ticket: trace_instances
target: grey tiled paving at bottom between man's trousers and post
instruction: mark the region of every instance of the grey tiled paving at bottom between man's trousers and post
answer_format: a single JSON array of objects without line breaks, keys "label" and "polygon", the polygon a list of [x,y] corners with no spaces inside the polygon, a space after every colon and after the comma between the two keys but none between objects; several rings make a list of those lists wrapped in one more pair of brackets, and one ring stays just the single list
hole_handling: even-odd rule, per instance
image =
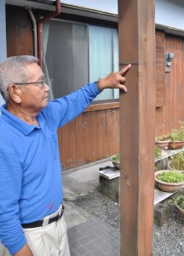
[{"label": "grey tiled paving at bottom between man's trousers and post", "polygon": [[69,228],[68,241],[71,256],[120,255],[120,232],[100,218]]}]

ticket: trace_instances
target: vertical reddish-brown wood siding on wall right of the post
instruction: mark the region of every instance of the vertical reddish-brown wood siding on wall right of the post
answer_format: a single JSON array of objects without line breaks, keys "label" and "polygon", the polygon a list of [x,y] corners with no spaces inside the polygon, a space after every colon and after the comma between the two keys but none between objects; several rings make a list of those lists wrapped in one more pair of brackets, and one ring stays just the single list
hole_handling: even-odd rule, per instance
[{"label": "vertical reddish-brown wood siding on wall right of the post", "polygon": [[164,105],[156,111],[156,135],[167,133],[184,121],[184,38],[166,35],[164,52],[175,56],[170,73],[164,73]]}]

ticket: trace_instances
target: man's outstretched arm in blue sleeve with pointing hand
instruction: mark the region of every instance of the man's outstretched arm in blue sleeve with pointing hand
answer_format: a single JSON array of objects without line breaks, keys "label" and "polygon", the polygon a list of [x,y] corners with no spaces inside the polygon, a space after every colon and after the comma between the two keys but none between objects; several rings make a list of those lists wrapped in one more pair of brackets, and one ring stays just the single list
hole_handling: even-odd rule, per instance
[{"label": "man's outstretched arm in blue sleeve with pointing hand", "polygon": [[76,118],[78,114],[89,107],[90,102],[95,99],[101,90],[120,89],[126,92],[127,89],[124,86],[126,79],[123,75],[130,67],[131,65],[129,64],[119,72],[110,73],[106,78],[99,81],[99,86],[98,84],[90,83],[68,96],[53,101],[51,103],[51,112],[53,113],[53,124],[55,124],[55,128],[58,129],[60,126],[66,125],[66,123]]}]

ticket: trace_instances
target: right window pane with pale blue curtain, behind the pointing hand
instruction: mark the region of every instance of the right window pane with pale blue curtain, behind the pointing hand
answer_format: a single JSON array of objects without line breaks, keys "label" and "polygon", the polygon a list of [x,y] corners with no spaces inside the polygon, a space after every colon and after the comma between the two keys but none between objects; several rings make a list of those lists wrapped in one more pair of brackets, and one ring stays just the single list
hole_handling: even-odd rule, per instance
[{"label": "right window pane with pale blue curtain, behind the pointing hand", "polygon": [[[89,26],[89,82],[118,71],[117,29]],[[118,98],[118,90],[104,90],[95,100]]]}]

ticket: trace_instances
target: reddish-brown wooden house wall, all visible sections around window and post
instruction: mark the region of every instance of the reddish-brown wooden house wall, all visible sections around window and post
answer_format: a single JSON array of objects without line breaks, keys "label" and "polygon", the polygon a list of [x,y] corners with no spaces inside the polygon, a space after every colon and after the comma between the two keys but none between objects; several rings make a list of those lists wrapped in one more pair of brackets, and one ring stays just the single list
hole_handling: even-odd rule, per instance
[{"label": "reddish-brown wooden house wall, all visible sections around window and post", "polygon": [[[26,9],[7,5],[8,56],[33,55],[32,20]],[[170,73],[164,53],[175,54]],[[184,120],[184,38],[156,31],[156,136]],[[107,158],[119,150],[118,102],[91,105],[58,131],[63,170]]]}]

